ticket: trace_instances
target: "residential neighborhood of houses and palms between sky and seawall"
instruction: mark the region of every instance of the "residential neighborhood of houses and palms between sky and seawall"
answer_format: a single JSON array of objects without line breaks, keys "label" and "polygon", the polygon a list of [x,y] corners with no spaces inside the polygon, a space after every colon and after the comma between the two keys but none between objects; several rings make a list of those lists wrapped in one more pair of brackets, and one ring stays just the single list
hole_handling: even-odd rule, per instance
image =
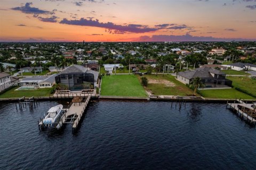
[{"label": "residential neighborhood of houses and palms between sky and seawall", "polygon": [[[130,95],[131,91],[126,94],[123,87],[112,87],[117,83],[115,79],[105,85],[106,76],[115,78],[120,74],[124,78],[130,74],[130,77],[136,77],[142,84],[140,86],[146,96],[196,95],[225,98],[225,94],[237,92],[254,96],[254,88],[249,85],[254,83],[256,77],[254,47],[256,44],[253,42],[2,43],[1,91],[12,87],[13,90],[19,87],[22,88],[18,90],[26,87],[45,88],[51,89],[51,93],[56,89],[68,89],[71,92],[99,89],[99,95],[123,96]],[[142,78],[146,78],[148,83],[143,84]],[[202,82],[197,88],[197,94],[193,92],[193,81],[196,78]],[[249,87],[237,86],[237,81],[244,79],[250,80],[246,85]],[[129,77],[123,81],[129,81]],[[13,86],[13,82],[19,87]],[[117,88],[124,94],[106,93],[105,86]],[[129,87],[129,83],[124,86],[131,90],[135,88]],[[210,90],[215,92],[207,94]],[[49,92],[46,94],[52,95]]]}]

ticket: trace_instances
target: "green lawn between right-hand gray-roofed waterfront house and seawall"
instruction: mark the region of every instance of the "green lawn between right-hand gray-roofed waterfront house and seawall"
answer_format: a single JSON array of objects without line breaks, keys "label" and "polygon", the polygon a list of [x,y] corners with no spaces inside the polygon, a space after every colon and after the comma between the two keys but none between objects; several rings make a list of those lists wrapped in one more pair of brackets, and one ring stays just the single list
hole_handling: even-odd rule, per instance
[{"label": "green lawn between right-hand gray-roofed waterfront house and seawall", "polygon": [[213,89],[200,90],[204,98],[218,98],[218,99],[254,99],[252,96],[246,95],[243,92],[232,89]]}]

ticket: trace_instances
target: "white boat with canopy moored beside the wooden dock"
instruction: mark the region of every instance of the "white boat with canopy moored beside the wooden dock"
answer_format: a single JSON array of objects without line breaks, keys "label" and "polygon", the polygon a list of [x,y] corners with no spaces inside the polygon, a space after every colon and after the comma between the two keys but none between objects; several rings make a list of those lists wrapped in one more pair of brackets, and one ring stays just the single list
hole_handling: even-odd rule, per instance
[{"label": "white boat with canopy moored beside the wooden dock", "polygon": [[47,115],[43,119],[43,123],[46,125],[52,125],[60,116],[62,108],[63,108],[63,105],[57,105],[57,106],[51,107],[47,112]]}]

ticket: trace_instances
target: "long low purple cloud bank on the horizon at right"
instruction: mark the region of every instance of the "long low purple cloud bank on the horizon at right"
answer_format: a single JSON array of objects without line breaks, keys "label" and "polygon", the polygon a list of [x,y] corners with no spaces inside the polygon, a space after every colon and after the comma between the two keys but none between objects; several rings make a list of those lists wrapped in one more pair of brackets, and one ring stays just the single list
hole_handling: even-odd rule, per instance
[{"label": "long low purple cloud bank on the horizon at right", "polygon": [[255,39],[242,39],[242,38],[215,38],[215,37],[199,37],[199,36],[191,36],[189,33],[182,36],[175,35],[153,35],[149,36],[141,36],[138,39],[134,39],[135,41],[255,41]]}]

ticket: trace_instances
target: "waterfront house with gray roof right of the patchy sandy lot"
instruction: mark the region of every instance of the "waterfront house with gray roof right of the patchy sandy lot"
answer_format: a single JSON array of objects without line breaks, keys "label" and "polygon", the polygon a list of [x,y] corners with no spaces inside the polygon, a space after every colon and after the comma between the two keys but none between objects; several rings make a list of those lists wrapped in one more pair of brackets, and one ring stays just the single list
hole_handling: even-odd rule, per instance
[{"label": "waterfront house with gray roof right of the patchy sandy lot", "polygon": [[226,79],[225,73],[210,67],[201,67],[177,74],[177,80],[184,84],[190,84],[196,77],[201,78],[205,88],[231,88],[232,85],[232,81]]}]

